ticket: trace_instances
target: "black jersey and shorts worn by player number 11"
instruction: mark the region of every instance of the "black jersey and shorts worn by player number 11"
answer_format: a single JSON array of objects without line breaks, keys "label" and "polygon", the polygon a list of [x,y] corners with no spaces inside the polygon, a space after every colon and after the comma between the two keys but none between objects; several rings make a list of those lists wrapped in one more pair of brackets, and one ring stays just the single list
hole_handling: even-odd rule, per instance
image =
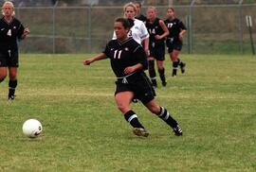
[{"label": "black jersey and shorts worn by player number 11", "polygon": [[[144,73],[148,67],[148,61],[140,44],[132,38],[122,43],[118,40],[112,40],[106,44],[103,53],[110,59],[112,70],[117,77],[115,95],[119,92],[131,91],[144,104],[154,99],[155,90]],[[124,74],[126,67],[137,63],[141,63],[143,69],[132,74]]]}]

